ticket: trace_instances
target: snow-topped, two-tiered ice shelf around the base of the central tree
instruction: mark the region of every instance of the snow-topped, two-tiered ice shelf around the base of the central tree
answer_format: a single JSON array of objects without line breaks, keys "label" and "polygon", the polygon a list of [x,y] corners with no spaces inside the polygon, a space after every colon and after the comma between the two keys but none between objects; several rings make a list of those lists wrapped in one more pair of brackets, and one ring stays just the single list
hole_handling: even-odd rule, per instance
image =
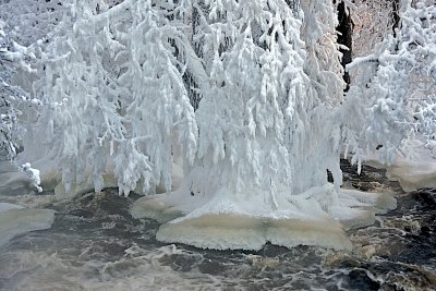
[{"label": "snow-topped, two-tiered ice shelf around the base of the central tree", "polygon": [[262,195],[230,195],[222,189],[208,201],[177,191],[137,199],[132,215],[162,222],[156,234],[159,241],[202,248],[261,250],[271,243],[350,250],[344,230],[372,225],[376,214],[396,207],[396,199],[386,193],[341,190],[335,206],[326,210],[316,196],[328,196],[330,189],[279,198],[277,209],[268,207]]}]

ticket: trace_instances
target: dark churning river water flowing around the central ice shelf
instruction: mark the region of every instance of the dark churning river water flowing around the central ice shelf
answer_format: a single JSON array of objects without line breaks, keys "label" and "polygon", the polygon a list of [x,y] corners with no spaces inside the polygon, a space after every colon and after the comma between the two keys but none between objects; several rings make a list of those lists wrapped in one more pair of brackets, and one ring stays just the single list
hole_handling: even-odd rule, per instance
[{"label": "dark churning river water flowing around the central ice shelf", "polygon": [[435,290],[436,190],[402,193],[384,170],[358,175],[347,161],[342,169],[346,186],[398,195],[396,210],[348,232],[352,252],[168,245],[155,240],[157,222],[130,216],[138,196],[109,189],[47,199],[58,211],[51,229],[0,248],[0,290]]}]

